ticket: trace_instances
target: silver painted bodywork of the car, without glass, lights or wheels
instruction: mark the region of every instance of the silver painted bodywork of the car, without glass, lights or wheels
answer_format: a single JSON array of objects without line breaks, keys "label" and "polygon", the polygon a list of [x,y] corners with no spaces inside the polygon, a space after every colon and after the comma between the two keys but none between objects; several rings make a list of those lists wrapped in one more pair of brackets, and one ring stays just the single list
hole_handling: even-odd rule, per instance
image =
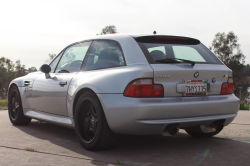
[{"label": "silver painted bodywork of the car, without glass, lights or wheels", "polygon": [[[56,80],[45,79],[42,72],[17,78],[10,86],[18,86],[26,116],[74,127],[73,104],[83,88],[97,94],[110,128],[121,134],[159,134],[174,121],[188,127],[207,125],[223,118],[228,125],[237,114],[239,99],[234,94],[220,95],[221,85],[227,81],[223,75],[232,76],[232,71],[225,65],[149,64],[136,41],[123,34],[99,35],[85,40],[100,39],[119,42],[127,66],[78,73],[50,73]],[[216,77],[217,81],[209,82],[208,96],[182,97],[183,79],[194,79],[196,71],[199,72],[197,79],[212,80]],[[164,86],[164,97],[124,97],[128,83],[137,78],[154,78],[154,83]],[[24,81],[30,81],[30,84],[25,86]],[[60,81],[67,81],[67,85],[60,87]]]}]

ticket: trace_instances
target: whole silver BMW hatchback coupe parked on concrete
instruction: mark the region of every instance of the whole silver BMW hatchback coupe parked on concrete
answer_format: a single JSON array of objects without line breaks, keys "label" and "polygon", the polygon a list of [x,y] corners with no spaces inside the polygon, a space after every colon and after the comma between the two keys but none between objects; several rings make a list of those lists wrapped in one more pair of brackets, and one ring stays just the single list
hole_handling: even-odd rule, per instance
[{"label": "whole silver BMW hatchback coupe parked on concrete", "polygon": [[199,40],[163,35],[100,35],[64,48],[41,71],[9,85],[9,118],[74,128],[88,150],[117,135],[184,129],[211,137],[239,109],[232,71]]}]

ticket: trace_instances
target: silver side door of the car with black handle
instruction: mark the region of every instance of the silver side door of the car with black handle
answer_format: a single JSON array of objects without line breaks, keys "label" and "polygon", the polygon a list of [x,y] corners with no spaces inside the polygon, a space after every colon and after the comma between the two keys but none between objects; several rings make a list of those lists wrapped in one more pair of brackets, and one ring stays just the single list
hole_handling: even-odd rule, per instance
[{"label": "silver side door of the car with black handle", "polygon": [[[42,112],[68,116],[67,94],[68,87],[76,73],[50,73],[51,78],[46,79],[45,74],[39,75],[33,84],[31,108]],[[60,85],[60,82],[67,85]]]}]

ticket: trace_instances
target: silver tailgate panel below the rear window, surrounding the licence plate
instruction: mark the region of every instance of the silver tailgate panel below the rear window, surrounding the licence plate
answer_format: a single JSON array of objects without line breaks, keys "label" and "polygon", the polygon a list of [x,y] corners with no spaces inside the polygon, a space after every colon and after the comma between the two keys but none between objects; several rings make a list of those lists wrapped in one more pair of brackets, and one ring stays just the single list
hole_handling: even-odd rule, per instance
[{"label": "silver tailgate panel below the rear window, surrounding the licence plate", "polygon": [[[219,95],[221,85],[227,82],[230,70],[218,64],[150,64],[154,70],[154,83],[162,84],[164,96],[184,96],[185,80],[207,80],[207,95]],[[194,77],[198,72],[199,76]]]}]

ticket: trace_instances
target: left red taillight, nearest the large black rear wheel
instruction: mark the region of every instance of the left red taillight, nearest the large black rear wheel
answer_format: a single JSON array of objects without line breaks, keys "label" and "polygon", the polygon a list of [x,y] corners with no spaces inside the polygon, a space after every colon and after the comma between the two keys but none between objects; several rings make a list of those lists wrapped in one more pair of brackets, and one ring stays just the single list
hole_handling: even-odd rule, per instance
[{"label": "left red taillight, nearest the large black rear wheel", "polygon": [[123,95],[127,97],[163,97],[164,89],[162,85],[154,84],[152,78],[142,78],[130,82]]}]

